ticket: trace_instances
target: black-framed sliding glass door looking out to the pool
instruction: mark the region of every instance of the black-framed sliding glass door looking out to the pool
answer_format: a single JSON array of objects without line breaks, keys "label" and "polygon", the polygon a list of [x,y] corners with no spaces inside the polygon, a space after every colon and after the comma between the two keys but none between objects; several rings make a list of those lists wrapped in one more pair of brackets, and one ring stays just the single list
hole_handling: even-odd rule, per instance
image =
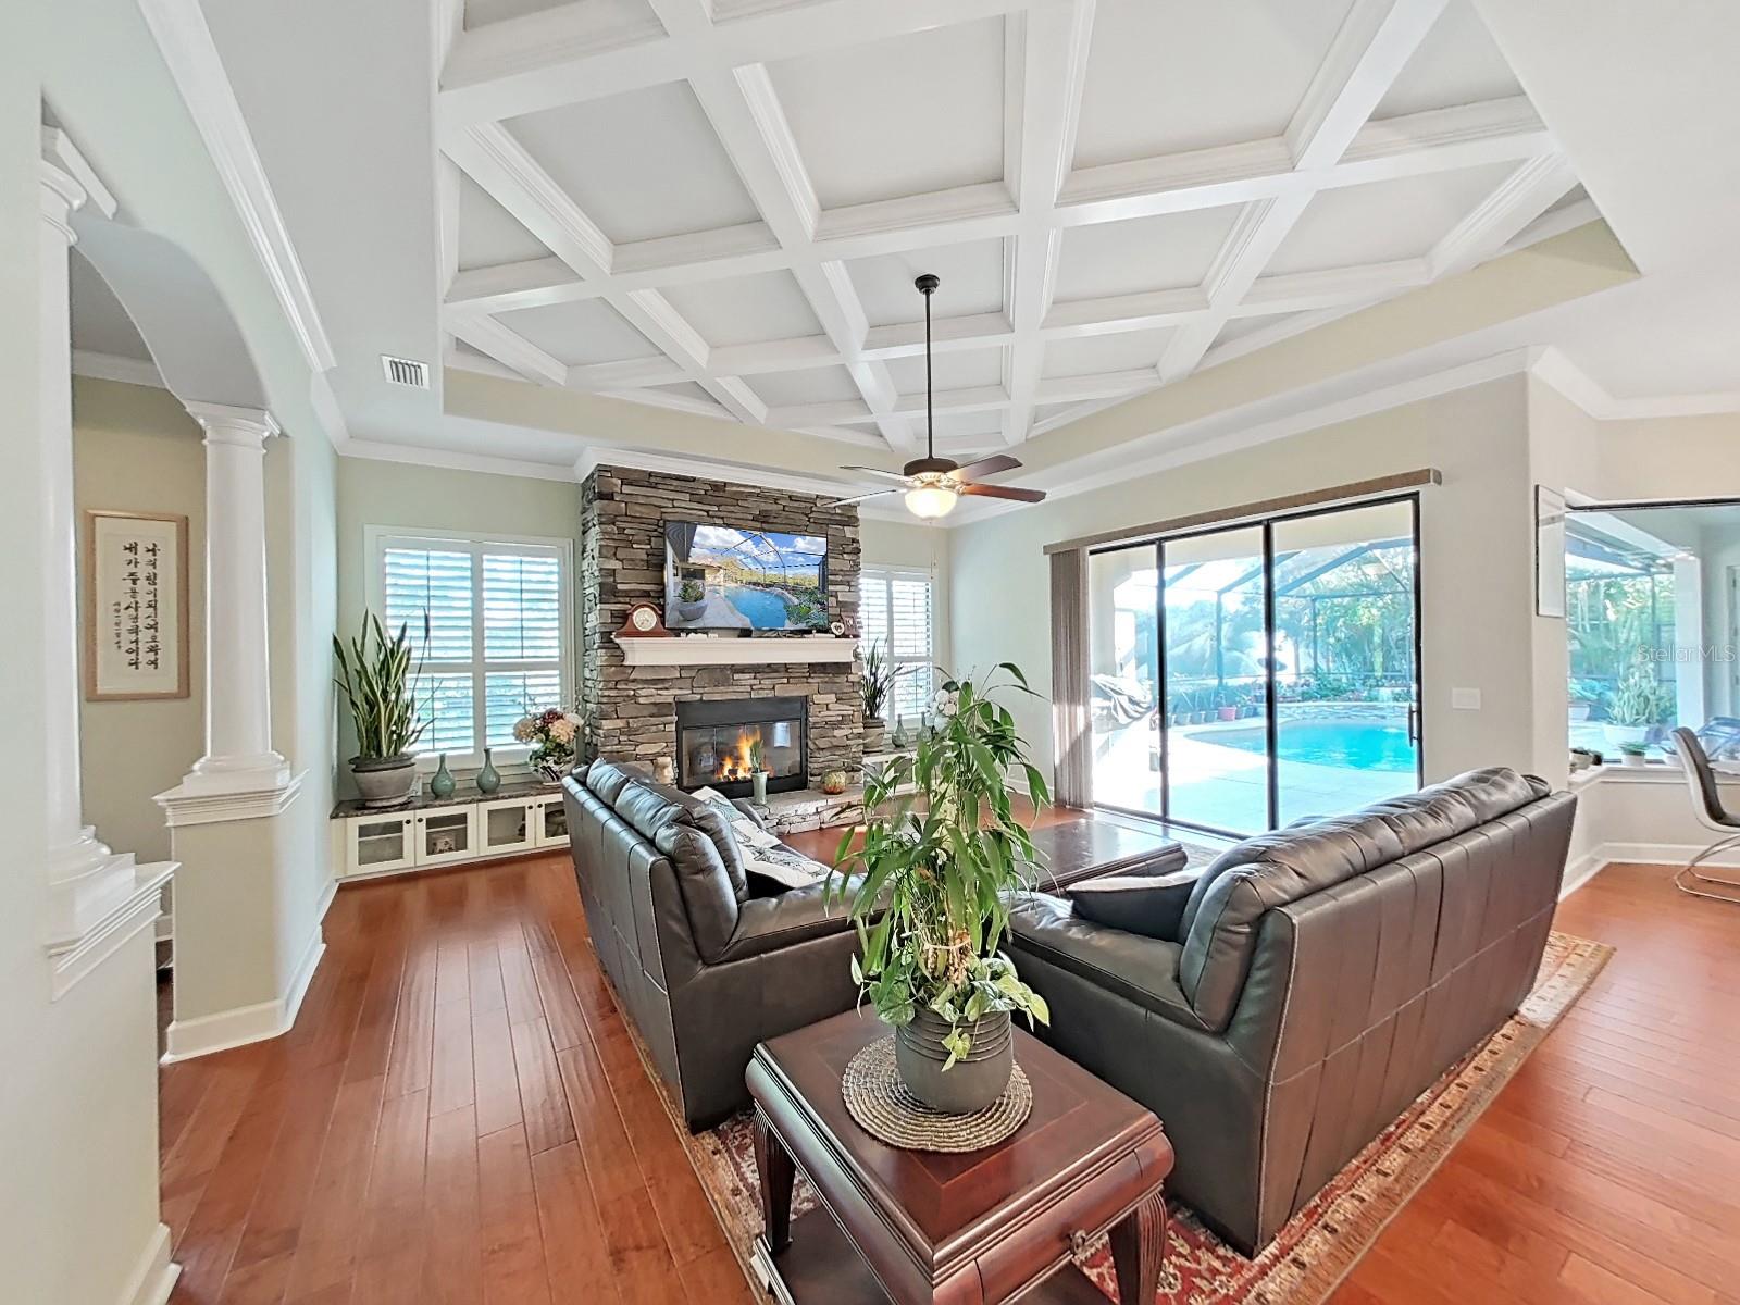
[{"label": "black-framed sliding glass door looking out to the pool", "polygon": [[1103,806],[1228,833],[1420,783],[1413,498],[1089,557]]}]

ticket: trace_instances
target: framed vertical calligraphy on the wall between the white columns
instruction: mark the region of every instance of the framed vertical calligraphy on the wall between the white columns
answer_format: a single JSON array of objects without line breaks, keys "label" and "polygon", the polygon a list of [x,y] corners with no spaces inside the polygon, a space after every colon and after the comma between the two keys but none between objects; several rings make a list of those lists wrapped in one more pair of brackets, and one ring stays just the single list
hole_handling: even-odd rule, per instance
[{"label": "framed vertical calligraphy on the wall between the white columns", "polygon": [[85,512],[85,698],[188,696],[188,519]]}]

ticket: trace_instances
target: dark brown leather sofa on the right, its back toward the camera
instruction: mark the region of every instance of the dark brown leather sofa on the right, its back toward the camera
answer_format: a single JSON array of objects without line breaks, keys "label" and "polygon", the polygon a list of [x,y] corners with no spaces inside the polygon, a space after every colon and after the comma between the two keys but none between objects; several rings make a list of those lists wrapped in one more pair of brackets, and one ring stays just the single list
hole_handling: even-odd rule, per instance
[{"label": "dark brown leather sofa on the right, its back toward the camera", "polygon": [[1173,938],[1032,894],[1014,959],[1044,1037],[1166,1122],[1169,1190],[1255,1253],[1528,995],[1575,807],[1470,771],[1239,844]]}]

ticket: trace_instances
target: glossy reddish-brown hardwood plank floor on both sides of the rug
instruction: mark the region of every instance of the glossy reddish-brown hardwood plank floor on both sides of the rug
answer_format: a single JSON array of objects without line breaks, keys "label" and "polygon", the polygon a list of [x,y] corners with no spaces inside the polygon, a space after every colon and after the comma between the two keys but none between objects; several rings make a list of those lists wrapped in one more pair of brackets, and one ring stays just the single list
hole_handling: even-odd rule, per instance
[{"label": "glossy reddish-brown hardwood plank floor on both sides of the rug", "polygon": [[[1338,1302],[1740,1302],[1740,910],[1611,867],[1561,927],[1618,955]],[[755,1300],[566,856],[348,886],[327,943],[291,1034],[164,1070],[177,1305]]]}]

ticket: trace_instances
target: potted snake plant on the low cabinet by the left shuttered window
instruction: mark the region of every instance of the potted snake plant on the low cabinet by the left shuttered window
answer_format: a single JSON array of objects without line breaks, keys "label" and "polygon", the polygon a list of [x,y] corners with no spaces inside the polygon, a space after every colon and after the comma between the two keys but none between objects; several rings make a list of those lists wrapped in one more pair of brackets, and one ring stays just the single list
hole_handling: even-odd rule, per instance
[{"label": "potted snake plant on the low cabinet by the left shuttered window", "polygon": [[[423,625],[428,644],[426,614]],[[388,639],[381,618],[364,612],[362,628],[350,644],[332,635],[332,658],[338,663],[332,682],[343,691],[357,727],[357,755],[350,759],[357,792],[371,807],[404,802],[418,778],[411,745],[428,726],[416,719],[409,693],[412,670],[405,625]]]}]

